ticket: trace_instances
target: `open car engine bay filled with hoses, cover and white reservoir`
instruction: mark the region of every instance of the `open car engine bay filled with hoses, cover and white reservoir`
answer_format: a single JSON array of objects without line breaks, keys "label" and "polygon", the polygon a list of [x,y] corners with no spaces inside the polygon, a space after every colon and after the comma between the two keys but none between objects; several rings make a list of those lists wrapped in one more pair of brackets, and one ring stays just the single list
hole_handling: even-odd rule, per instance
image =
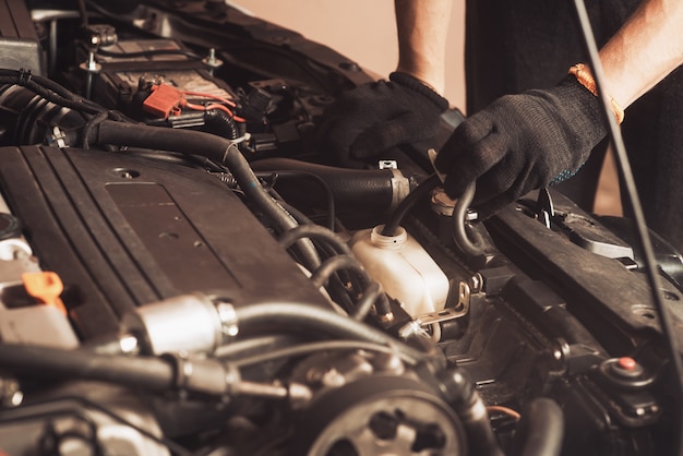
[{"label": "open car engine bay filled with hoses, cover and white reservoir", "polygon": [[0,455],[680,454],[681,254],[668,334],[630,220],[479,220],[457,109],[338,166],[371,81],[223,1],[0,2]]}]

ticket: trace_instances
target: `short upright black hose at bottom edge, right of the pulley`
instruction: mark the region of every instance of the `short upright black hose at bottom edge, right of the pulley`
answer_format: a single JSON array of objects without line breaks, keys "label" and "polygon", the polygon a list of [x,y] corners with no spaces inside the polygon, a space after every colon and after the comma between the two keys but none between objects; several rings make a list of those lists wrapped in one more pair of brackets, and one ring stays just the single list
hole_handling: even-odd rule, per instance
[{"label": "short upright black hose at bottom edge, right of the pulley", "polygon": [[522,416],[520,456],[560,456],[564,439],[564,416],[552,399],[534,399]]}]

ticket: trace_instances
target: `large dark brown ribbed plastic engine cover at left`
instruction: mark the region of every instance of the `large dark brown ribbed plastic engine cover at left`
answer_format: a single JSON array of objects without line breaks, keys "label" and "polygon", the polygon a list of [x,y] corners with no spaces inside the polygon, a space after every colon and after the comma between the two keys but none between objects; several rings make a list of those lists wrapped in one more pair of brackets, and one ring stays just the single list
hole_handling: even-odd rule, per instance
[{"label": "large dark brown ribbed plastic engine cover at left", "polygon": [[99,151],[0,148],[0,185],[81,336],[179,293],[238,305],[324,299],[266,228],[204,170]]}]

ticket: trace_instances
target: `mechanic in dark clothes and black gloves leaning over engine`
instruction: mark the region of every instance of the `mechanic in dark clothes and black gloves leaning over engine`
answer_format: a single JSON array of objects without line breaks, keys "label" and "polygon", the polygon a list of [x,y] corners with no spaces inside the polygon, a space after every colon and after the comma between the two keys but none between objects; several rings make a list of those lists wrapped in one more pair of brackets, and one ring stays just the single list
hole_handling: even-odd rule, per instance
[{"label": "mechanic in dark clothes and black gloves leaning over engine", "polygon": [[[624,119],[646,219],[683,251],[683,1],[587,3],[601,46],[604,92],[619,121]],[[395,0],[396,72],[390,82],[347,93],[321,125],[320,137],[338,161],[359,166],[435,133],[448,106],[439,94],[451,8],[452,0]],[[587,62],[584,49],[570,0],[467,1],[467,111],[474,115],[435,161],[446,172],[450,195],[457,197],[477,180],[474,206],[486,218],[527,191],[564,181],[559,190],[591,211],[608,142],[599,101],[589,91],[595,92],[590,69],[577,65]],[[624,212],[630,215],[627,204]]]}]

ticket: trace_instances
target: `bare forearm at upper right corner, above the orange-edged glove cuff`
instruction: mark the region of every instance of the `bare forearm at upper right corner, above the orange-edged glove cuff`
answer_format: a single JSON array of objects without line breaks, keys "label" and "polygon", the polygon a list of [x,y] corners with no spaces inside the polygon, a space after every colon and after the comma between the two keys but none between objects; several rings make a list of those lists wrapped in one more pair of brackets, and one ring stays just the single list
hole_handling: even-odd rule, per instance
[{"label": "bare forearm at upper right corner, above the orange-edged glove cuff", "polygon": [[683,1],[644,0],[600,50],[606,89],[626,108],[683,63]]}]

